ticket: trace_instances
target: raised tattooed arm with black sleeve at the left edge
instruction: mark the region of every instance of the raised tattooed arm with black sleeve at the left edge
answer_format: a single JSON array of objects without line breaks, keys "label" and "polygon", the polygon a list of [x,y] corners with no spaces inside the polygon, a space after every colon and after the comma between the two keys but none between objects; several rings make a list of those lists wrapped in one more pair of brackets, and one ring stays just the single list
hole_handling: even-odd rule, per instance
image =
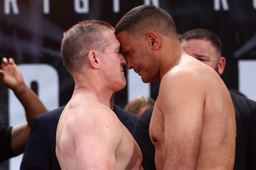
[{"label": "raised tattooed arm with black sleeve at the left edge", "polygon": [[36,115],[47,112],[36,94],[24,83],[22,73],[14,59],[3,58],[0,69],[1,83],[10,88],[25,109],[26,122],[20,125],[0,127],[0,163],[23,153],[33,119]]}]

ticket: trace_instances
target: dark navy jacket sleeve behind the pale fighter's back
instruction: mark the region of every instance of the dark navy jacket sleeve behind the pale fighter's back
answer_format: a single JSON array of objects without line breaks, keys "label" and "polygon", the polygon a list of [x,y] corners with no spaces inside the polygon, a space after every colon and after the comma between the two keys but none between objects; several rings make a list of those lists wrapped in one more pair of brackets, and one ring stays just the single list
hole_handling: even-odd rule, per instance
[{"label": "dark navy jacket sleeve behind the pale fighter's back", "polygon": [[39,118],[35,117],[28,144],[24,151],[21,170],[49,170],[50,154],[47,148],[47,135]]}]

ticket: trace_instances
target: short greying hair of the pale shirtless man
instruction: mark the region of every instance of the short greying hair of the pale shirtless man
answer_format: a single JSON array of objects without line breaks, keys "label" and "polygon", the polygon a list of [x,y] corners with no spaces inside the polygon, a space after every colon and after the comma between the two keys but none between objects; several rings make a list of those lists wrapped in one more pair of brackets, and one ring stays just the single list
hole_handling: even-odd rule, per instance
[{"label": "short greying hair of the pale shirtless man", "polygon": [[61,58],[69,73],[79,71],[90,50],[104,53],[108,45],[108,39],[104,36],[105,31],[114,33],[114,28],[105,21],[85,20],[64,32]]}]

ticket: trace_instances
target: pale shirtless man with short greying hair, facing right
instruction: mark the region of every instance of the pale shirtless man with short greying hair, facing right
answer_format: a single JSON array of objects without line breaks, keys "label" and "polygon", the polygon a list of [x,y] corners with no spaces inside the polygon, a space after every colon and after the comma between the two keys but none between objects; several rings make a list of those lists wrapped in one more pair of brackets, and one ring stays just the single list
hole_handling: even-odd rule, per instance
[{"label": "pale shirtless man with short greying hair, facing right", "polygon": [[64,33],[61,57],[75,89],[56,134],[62,170],[142,170],[139,146],[110,109],[112,94],[126,85],[119,48],[104,21],[83,21]]}]

